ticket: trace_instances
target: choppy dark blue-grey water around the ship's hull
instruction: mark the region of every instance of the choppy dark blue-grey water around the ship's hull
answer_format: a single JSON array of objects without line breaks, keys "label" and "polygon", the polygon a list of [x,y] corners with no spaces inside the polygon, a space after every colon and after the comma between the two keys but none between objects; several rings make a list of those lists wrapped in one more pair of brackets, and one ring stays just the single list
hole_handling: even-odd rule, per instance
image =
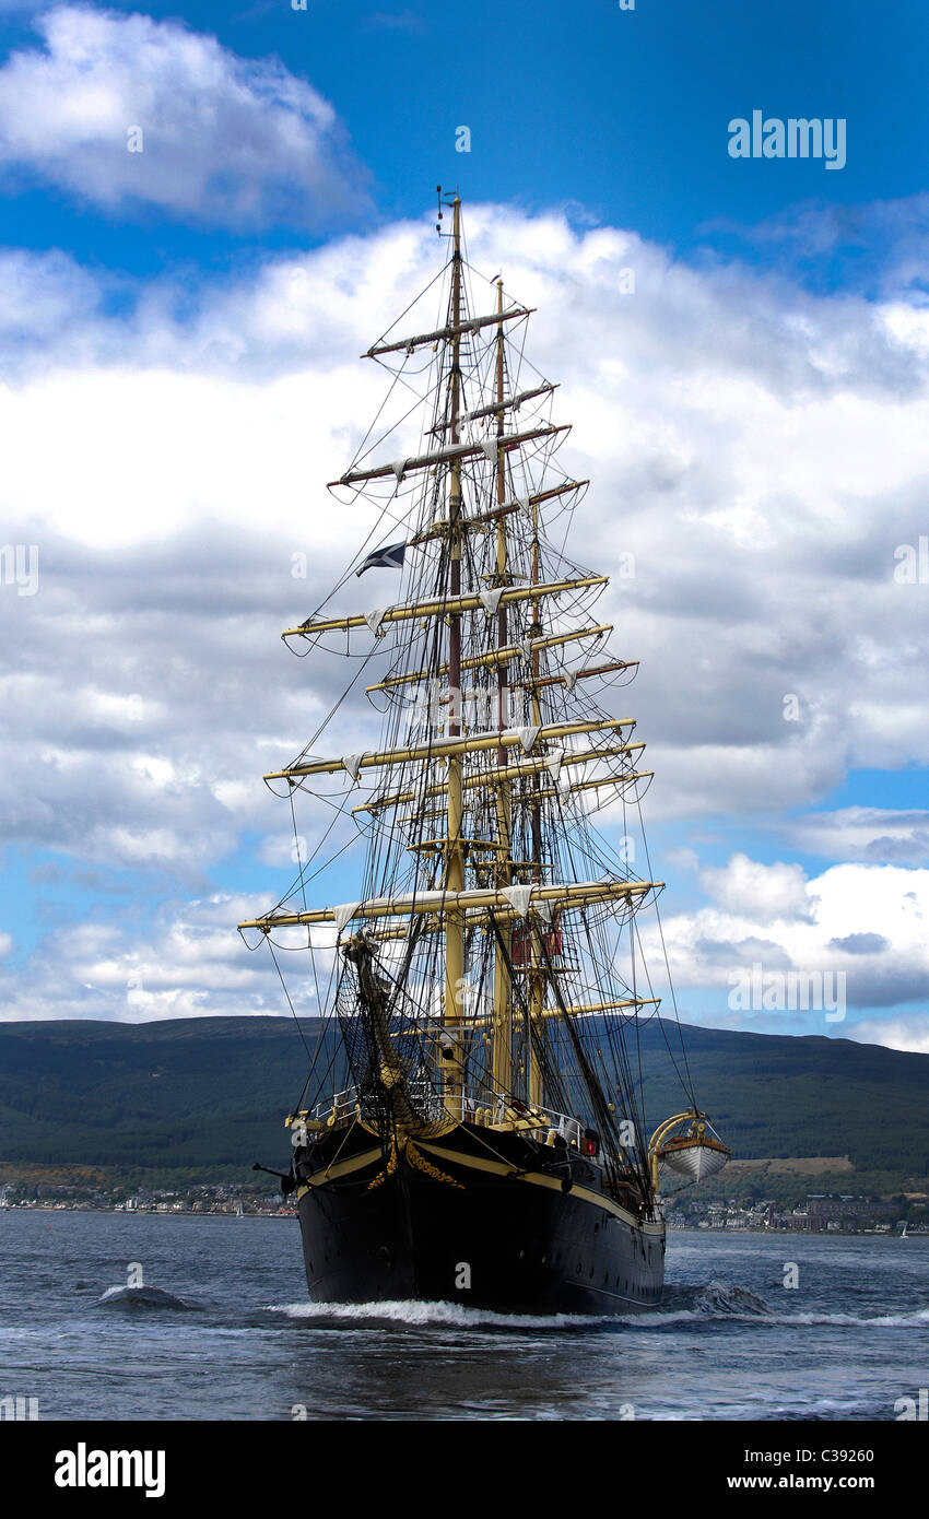
[{"label": "choppy dark blue-grey water around the ship's hull", "polygon": [[675,1232],[656,1312],[516,1318],[310,1305],[296,1220],[0,1212],[0,1397],[41,1419],[893,1420],[927,1384],[929,1238]]}]

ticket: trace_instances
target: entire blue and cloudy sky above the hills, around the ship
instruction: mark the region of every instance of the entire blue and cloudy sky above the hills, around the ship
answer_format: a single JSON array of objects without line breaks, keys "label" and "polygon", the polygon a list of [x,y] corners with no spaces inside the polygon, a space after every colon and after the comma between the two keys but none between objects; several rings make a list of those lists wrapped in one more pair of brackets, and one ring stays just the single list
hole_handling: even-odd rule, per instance
[{"label": "entire blue and cloudy sky above the hills, around the ship", "polygon": [[[926,8],[14,0],[0,49],[2,536],[49,567],[47,594],[0,597],[20,714],[2,1016],[272,1006],[223,937],[287,873],[237,790],[263,769],[241,731],[285,749],[305,722],[273,662],[290,545],[325,576],[349,538],[304,515],[302,480],[345,456],[358,340],[434,269],[442,182],[475,208],[483,267],[510,258],[548,302],[540,357],[590,419],[594,536],[609,497],[642,564],[636,702],[668,776],[654,843],[685,1012],[689,987],[726,1019],[701,945],[797,963],[842,913],[865,933],[871,893],[886,949],[850,1019],[929,1048],[906,916],[912,890],[929,907],[929,589],[893,583],[896,545],[929,532]],[[841,118],[844,167],[733,159],[753,109]],[[797,883],[833,925],[815,949]]]}]

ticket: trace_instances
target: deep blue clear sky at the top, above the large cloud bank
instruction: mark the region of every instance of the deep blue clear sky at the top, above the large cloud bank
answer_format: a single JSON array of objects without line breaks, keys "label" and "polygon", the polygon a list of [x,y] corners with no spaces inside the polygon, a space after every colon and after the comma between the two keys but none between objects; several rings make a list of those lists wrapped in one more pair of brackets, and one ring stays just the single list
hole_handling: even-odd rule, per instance
[{"label": "deep blue clear sky at the top, above the large cloud bank", "polygon": [[[112,6],[112,11],[135,11]],[[798,204],[855,208],[920,193],[929,12],[918,0],[783,0],[768,12],[741,0],[639,0],[635,11],[490,3],[383,12],[308,0],[243,9],[146,8],[184,17],[243,58],[279,58],[337,105],[364,164],[376,219],[416,216],[433,184],[469,201],[527,208],[574,204],[575,214],[631,225],[675,251],[712,257],[730,237]],[[29,17],[8,17],[8,47],[29,47]],[[844,117],[849,161],[738,163],[733,117]],[[471,126],[469,153],[455,128]],[[360,211],[364,207],[360,204]],[[175,225],[102,220],[61,196],[18,194],[6,225],[24,246],[67,246],[82,258],[150,272],[162,260],[216,267],[255,252],[254,237]],[[305,234],[296,242],[304,246]],[[264,229],[261,248],[293,246],[294,229]],[[757,257],[757,254],[753,254]],[[815,276],[815,275],[814,275]]]}]

